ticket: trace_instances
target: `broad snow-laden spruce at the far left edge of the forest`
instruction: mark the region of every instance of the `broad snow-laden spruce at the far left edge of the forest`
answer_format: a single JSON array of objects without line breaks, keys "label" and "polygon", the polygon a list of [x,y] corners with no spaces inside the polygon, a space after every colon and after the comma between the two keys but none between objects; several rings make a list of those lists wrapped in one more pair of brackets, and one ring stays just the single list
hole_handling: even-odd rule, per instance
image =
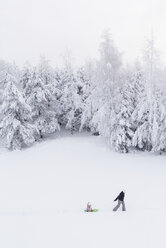
[{"label": "broad snow-laden spruce at the far left edge of the forest", "polygon": [[21,149],[35,142],[37,130],[31,123],[31,108],[16,87],[13,76],[7,75],[1,107],[0,136],[9,149]]}]

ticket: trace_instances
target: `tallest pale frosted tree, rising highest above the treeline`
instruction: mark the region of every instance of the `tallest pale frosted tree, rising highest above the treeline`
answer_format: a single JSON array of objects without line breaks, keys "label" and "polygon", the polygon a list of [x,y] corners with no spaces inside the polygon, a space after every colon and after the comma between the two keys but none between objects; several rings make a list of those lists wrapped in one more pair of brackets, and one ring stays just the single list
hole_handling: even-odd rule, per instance
[{"label": "tallest pale frosted tree, rising highest above the treeline", "polygon": [[112,105],[114,91],[120,85],[120,67],[121,54],[110,38],[109,31],[102,35],[100,44],[100,59],[96,63],[95,90],[94,98],[96,99],[96,110],[94,112],[92,123],[100,134],[103,134],[102,126],[105,120],[101,119],[101,112],[106,113]]}]

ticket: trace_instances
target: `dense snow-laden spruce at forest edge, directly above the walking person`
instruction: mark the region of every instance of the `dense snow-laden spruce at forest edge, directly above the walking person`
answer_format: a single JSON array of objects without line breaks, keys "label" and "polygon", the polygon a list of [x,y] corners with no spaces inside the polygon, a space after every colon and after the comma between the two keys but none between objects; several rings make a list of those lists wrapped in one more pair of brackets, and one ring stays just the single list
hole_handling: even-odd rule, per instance
[{"label": "dense snow-laden spruce at forest edge, directly above the walking person", "polygon": [[110,120],[109,142],[116,151],[128,152],[132,146],[134,129],[131,115],[134,111],[133,89],[130,85],[120,88],[114,98]]}]

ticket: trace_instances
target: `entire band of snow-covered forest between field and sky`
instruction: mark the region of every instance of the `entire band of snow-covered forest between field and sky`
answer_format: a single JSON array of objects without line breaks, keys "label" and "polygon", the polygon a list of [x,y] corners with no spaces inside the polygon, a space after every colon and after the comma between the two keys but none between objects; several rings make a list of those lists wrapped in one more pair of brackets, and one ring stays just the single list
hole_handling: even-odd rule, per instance
[{"label": "entire band of snow-covered forest between field and sky", "polygon": [[99,58],[52,68],[45,58],[22,69],[0,61],[0,139],[21,149],[61,129],[105,137],[118,152],[166,151],[166,68],[154,40],[142,61],[124,65],[109,32]]}]

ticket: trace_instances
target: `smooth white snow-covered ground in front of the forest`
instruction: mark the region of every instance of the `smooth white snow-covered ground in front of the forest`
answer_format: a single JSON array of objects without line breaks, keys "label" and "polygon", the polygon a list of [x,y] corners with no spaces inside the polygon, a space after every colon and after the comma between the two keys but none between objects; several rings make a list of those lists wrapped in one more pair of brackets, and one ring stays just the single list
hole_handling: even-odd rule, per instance
[{"label": "smooth white snow-covered ground in front of the forest", "polygon": [[[126,190],[126,212],[113,200]],[[87,202],[99,208],[85,213]],[[166,157],[88,134],[0,150],[1,248],[165,248]]]}]

